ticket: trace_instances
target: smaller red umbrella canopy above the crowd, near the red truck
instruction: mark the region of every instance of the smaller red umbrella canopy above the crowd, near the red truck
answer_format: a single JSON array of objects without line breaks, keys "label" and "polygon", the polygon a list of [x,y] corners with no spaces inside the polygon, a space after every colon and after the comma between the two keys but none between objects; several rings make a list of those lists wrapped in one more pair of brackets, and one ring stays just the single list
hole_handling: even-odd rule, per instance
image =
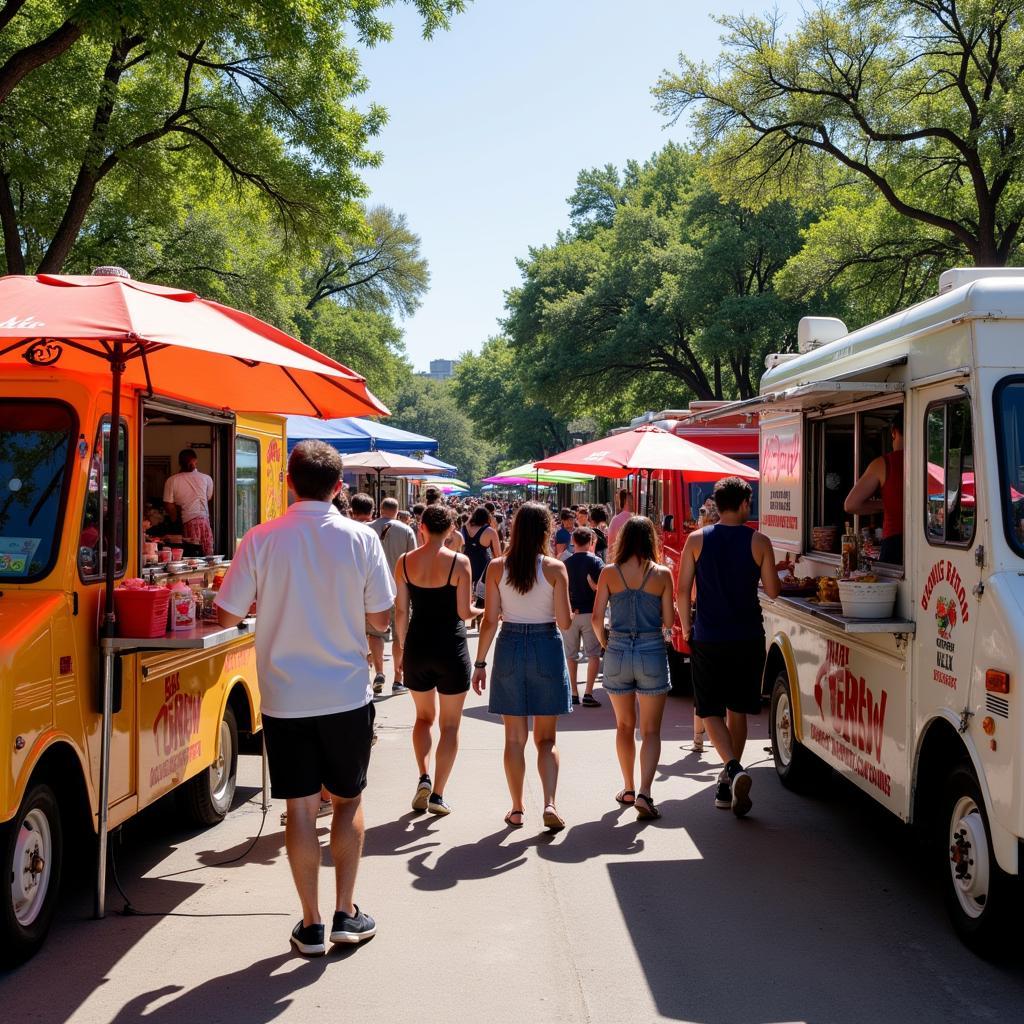
[{"label": "smaller red umbrella canopy above the crowd, near the red truck", "polygon": [[560,455],[540,460],[541,469],[571,470],[597,476],[629,476],[642,470],[674,470],[688,480],[720,480],[738,476],[744,480],[759,477],[756,469],[735,459],[694,444],[660,427],[643,426],[624,430],[599,441],[581,444]]}]

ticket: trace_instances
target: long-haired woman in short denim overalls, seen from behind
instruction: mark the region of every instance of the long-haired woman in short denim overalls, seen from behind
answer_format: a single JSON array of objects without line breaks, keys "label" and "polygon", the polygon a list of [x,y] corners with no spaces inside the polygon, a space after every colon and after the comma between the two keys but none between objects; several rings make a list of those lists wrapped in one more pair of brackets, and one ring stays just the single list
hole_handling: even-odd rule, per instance
[{"label": "long-haired woman in short denim overalls, seen from behind", "polygon": [[[610,607],[610,630],[604,611]],[[675,621],[672,572],[660,564],[654,524],[628,519],[615,541],[614,562],[601,570],[594,602],[594,632],[604,651],[604,689],[615,712],[615,753],[623,788],[615,797],[633,804],[640,818],[659,818],[650,791],[662,757],[662,716],[672,689],[664,630]],[[640,788],[634,785],[640,723]]]}]

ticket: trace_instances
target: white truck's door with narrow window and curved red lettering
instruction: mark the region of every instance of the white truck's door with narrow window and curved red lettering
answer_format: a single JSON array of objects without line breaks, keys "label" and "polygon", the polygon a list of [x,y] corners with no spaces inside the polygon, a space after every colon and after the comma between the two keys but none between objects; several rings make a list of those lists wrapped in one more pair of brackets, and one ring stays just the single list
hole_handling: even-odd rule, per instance
[{"label": "white truck's door with narrow window and curved red lettering", "polygon": [[916,581],[914,680],[918,734],[935,713],[959,715],[971,703],[977,597],[978,501],[971,398],[945,383],[919,393],[923,450],[909,456],[911,501],[905,521],[914,536]]}]

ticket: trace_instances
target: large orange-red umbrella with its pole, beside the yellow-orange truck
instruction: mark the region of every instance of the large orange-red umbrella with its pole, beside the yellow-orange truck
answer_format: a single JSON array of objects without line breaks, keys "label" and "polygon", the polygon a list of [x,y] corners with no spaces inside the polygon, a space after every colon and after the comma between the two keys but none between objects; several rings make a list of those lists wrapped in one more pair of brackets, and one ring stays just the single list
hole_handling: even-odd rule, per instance
[{"label": "large orange-red umbrella with its pole, beside the yellow-orange truck", "polygon": [[[193,292],[131,281],[103,267],[92,276],[0,278],[0,370],[101,375],[112,384],[111,422],[127,388],[216,409],[323,417],[387,414],[366,379],[248,313]],[[115,549],[120,431],[111,431],[106,550]],[[115,559],[106,560],[96,916],[103,915],[114,691]]]}]

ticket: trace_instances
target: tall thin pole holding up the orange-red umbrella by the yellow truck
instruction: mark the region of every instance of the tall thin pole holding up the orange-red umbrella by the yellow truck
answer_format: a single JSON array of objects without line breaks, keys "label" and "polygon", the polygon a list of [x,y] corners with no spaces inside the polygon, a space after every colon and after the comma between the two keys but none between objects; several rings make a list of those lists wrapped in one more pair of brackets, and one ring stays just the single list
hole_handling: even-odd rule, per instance
[{"label": "tall thin pole holding up the orange-red umbrella by the yellow truck", "polygon": [[[114,726],[114,659],[117,655],[111,641],[117,627],[114,615],[114,578],[117,575],[118,463],[121,460],[121,374],[124,372],[124,349],[114,345],[111,357],[111,441],[106,466],[106,515],[103,523],[103,547],[106,565],[103,583],[103,620],[100,627],[102,648],[102,732],[99,739],[99,808],[97,818],[98,849],[96,854],[96,893],[94,916],[102,919],[106,911],[106,822],[111,796],[111,732]],[[101,485],[101,484],[100,484]]]}]

